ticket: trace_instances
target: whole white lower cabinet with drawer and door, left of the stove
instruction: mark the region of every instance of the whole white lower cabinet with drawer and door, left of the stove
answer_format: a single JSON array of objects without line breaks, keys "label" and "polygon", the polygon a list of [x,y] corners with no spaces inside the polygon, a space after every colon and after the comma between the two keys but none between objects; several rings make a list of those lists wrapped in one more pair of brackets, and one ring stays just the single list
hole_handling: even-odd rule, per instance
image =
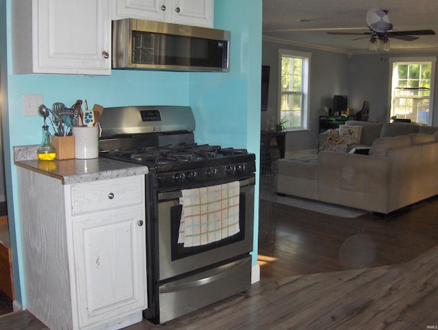
[{"label": "whole white lower cabinet with drawer and door, left of the stove", "polygon": [[29,312],[50,329],[140,322],[147,301],[144,176],[63,186],[23,168],[17,173]]}]

